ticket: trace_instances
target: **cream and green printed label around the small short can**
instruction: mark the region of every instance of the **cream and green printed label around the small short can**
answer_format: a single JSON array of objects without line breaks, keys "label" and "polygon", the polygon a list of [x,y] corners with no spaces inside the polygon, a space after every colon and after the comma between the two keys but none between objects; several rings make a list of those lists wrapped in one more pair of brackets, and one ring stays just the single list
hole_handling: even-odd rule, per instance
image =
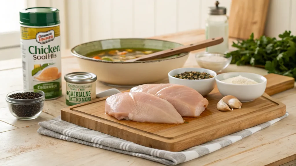
[{"label": "cream and green printed label around the small short can", "polygon": [[66,82],[66,104],[76,105],[96,99],[96,82],[74,84]]}]

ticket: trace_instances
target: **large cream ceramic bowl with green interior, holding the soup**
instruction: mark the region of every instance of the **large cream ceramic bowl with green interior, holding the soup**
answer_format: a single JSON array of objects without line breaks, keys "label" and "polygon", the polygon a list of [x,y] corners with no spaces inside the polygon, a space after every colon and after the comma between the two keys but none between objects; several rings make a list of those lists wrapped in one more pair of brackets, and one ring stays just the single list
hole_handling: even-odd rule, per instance
[{"label": "large cream ceramic bowl with green interior, holding the soup", "polygon": [[86,57],[88,53],[105,49],[151,48],[166,50],[182,44],[155,39],[109,39],[83,43],[72,48],[71,53],[78,58],[81,71],[96,74],[101,82],[111,85],[139,85],[160,81],[168,72],[181,68],[188,53],[178,57],[139,62],[110,62]]}]

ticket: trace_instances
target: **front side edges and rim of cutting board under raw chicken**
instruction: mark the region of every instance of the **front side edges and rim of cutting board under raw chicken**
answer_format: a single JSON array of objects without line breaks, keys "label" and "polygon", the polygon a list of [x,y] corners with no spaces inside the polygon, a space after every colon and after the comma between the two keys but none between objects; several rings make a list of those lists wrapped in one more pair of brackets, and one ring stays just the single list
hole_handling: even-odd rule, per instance
[{"label": "front side edges and rim of cutting board under raw chicken", "polygon": [[[213,139],[218,139],[221,136],[226,136],[226,135],[244,130],[246,128],[256,126],[258,124],[265,123],[267,121],[273,120],[274,118],[281,117],[286,113],[286,106],[283,103],[277,100],[274,100],[272,97],[268,96],[267,94],[264,94],[263,97],[277,104],[276,106],[277,108],[272,107],[272,108],[264,109],[255,113],[257,114],[257,116],[265,117],[264,119],[263,118],[259,120],[255,119],[254,113],[250,115],[245,114],[231,121],[228,120],[226,122],[224,121],[220,122],[219,124],[218,123],[213,124],[212,127],[207,128],[207,132],[203,130],[195,131],[195,132],[191,132],[190,134],[186,134],[184,136],[178,136],[178,138],[176,139],[163,138],[153,133],[140,131],[130,126],[125,126],[123,124],[108,121],[108,120],[96,117],[94,115],[89,115],[87,113],[83,113],[75,110],[75,108],[77,107],[98,102],[101,100],[105,100],[106,97],[93,100],[89,103],[82,103],[79,105],[71,106],[69,108],[64,108],[61,110],[61,118],[63,121],[68,121],[70,123],[74,123],[82,127],[100,131],[102,133],[106,133],[121,139],[135,142],[137,144],[141,144],[146,147],[178,152],[193,146],[203,144]],[[223,128],[225,126],[231,126],[231,127],[230,128],[228,127],[227,129],[225,129]],[[112,130],[118,131],[117,128],[120,128],[119,130],[120,132],[116,132],[115,134],[112,134],[111,131]],[[202,136],[202,137],[199,137],[199,136]],[[187,138],[184,139],[184,137],[187,137]],[[144,141],[144,140],[147,140],[147,138],[149,138],[149,141]],[[139,140],[143,140],[143,141],[139,141]],[[153,143],[151,143],[152,141]]]}]

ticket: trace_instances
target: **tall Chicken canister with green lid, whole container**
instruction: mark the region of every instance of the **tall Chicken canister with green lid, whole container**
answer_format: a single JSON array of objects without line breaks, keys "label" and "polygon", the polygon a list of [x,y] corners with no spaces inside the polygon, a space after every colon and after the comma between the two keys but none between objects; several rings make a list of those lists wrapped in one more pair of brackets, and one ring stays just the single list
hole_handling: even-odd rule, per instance
[{"label": "tall Chicken canister with green lid, whole container", "polygon": [[59,10],[32,7],[20,11],[24,89],[38,89],[45,99],[62,96]]}]

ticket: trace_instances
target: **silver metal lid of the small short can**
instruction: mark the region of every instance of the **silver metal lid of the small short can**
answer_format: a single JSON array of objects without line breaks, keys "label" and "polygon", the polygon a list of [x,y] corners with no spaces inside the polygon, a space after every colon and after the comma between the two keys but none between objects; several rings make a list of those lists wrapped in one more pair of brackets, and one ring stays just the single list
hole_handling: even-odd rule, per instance
[{"label": "silver metal lid of the small short can", "polygon": [[96,81],[96,75],[88,72],[73,72],[65,75],[65,81],[75,84],[85,84]]}]

